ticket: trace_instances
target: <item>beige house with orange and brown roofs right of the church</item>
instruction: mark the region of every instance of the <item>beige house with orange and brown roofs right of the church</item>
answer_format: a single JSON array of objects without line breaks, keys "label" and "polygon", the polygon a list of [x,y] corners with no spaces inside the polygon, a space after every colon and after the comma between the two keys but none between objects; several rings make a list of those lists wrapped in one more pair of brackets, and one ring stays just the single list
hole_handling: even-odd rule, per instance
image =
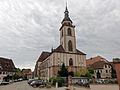
[{"label": "beige house with orange and brown roofs right of the church", "polygon": [[111,62],[101,56],[87,59],[87,67],[94,69],[95,78],[111,78],[113,65]]}]

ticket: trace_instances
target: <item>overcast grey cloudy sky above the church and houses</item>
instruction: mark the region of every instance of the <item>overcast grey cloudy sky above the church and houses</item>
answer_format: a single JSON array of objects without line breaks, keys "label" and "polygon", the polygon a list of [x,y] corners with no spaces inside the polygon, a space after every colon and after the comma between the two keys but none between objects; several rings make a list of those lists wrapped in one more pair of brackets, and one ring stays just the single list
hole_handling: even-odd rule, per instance
[{"label": "overcast grey cloudy sky above the church and houses", "polygon": [[[67,0],[77,48],[87,58],[120,57],[120,0]],[[60,43],[66,0],[0,0],[0,57],[34,69],[42,51]]]}]

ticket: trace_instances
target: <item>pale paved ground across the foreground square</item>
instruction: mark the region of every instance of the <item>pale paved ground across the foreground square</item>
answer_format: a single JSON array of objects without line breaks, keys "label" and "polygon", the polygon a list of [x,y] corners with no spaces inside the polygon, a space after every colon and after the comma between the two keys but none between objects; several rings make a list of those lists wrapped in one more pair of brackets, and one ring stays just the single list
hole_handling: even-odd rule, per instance
[{"label": "pale paved ground across the foreground square", "polygon": [[[118,90],[118,85],[91,85],[91,88],[74,87],[75,90]],[[33,88],[27,84],[27,81],[16,82],[9,85],[0,86],[0,90],[65,90],[62,88]]]}]

